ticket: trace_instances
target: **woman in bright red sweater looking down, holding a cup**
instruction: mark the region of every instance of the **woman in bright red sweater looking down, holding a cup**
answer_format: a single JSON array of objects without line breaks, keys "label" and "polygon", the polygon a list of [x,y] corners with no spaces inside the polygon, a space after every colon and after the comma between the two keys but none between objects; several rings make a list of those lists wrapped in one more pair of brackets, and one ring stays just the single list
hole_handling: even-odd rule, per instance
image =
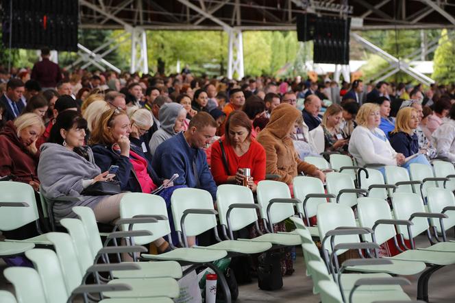
[{"label": "woman in bright red sweater looking down, holding a cup", "polygon": [[265,179],[265,150],[251,138],[251,121],[245,112],[236,110],[229,115],[225,135],[212,144],[211,161],[213,179],[218,185],[242,184],[244,168],[251,170],[251,191],[255,192],[258,182]]}]

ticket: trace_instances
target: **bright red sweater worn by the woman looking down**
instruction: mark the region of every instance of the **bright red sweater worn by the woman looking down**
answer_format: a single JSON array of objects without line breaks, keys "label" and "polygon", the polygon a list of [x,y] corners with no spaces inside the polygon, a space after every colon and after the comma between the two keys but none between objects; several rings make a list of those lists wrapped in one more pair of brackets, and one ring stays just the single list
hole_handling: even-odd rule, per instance
[{"label": "bright red sweater worn by the woman looking down", "polygon": [[226,183],[227,177],[235,175],[237,169],[251,169],[251,177],[254,183],[265,180],[265,149],[256,140],[251,138],[251,144],[248,151],[243,156],[237,156],[229,141],[222,136],[221,141],[226,154],[227,166],[229,171],[226,171],[221,154],[219,141],[212,144],[212,156],[210,169],[212,170],[213,180],[217,184]]}]

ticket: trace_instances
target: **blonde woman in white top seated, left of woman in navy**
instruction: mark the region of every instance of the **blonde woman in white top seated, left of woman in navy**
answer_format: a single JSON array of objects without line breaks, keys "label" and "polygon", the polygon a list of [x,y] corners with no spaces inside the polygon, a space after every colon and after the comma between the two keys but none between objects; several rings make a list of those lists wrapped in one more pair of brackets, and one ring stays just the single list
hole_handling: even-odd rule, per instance
[{"label": "blonde woman in white top seated, left of woman in navy", "polygon": [[404,155],[391,146],[386,134],[380,130],[380,108],[378,104],[363,104],[356,116],[357,127],[349,139],[349,154],[356,158],[358,165],[370,163],[403,165]]}]

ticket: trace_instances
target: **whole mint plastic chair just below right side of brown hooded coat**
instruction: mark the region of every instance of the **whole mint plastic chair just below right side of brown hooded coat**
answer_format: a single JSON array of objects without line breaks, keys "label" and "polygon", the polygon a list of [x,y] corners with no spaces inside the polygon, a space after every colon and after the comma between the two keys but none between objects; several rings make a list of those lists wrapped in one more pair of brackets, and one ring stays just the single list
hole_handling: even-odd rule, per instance
[{"label": "whole mint plastic chair just below right side of brown hooded coat", "polygon": [[319,237],[317,227],[310,224],[310,217],[314,217],[317,213],[317,206],[327,203],[327,199],[332,195],[325,193],[324,185],[319,178],[308,176],[295,177],[293,191],[294,197],[302,201],[302,203],[296,204],[297,213],[304,218],[312,236]]}]

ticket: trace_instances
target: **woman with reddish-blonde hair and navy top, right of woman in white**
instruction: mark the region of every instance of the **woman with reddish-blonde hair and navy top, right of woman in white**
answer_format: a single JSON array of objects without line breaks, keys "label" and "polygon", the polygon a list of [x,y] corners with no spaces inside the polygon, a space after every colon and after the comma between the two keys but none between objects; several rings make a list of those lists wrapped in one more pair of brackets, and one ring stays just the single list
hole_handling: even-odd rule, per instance
[{"label": "woman with reddish-blonde hair and navy top, right of woman in white", "polygon": [[403,166],[408,167],[410,163],[421,163],[430,165],[428,159],[423,154],[419,154],[419,139],[414,130],[419,126],[419,117],[415,108],[402,108],[397,113],[395,120],[395,130],[390,132],[390,143],[395,151],[402,153],[406,158],[410,158]]}]

